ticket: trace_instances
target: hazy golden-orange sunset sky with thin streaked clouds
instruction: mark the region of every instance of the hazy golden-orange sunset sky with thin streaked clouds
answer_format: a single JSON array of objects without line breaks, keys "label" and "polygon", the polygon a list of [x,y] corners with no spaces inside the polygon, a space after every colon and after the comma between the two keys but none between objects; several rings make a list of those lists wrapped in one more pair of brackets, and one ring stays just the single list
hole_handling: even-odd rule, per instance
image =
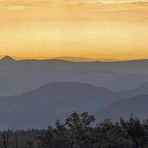
[{"label": "hazy golden-orange sunset sky with thin streaked clouds", "polygon": [[0,0],[0,56],[148,58],[148,0]]}]

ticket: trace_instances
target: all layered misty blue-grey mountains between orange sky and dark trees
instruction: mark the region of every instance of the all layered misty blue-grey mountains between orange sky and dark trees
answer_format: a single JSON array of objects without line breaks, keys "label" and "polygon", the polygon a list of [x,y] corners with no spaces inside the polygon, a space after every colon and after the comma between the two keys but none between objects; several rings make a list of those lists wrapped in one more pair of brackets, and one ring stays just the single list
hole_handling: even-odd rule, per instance
[{"label": "all layered misty blue-grey mountains between orange sky and dark trees", "polygon": [[46,128],[67,114],[148,117],[148,61],[0,60],[0,129]]}]

